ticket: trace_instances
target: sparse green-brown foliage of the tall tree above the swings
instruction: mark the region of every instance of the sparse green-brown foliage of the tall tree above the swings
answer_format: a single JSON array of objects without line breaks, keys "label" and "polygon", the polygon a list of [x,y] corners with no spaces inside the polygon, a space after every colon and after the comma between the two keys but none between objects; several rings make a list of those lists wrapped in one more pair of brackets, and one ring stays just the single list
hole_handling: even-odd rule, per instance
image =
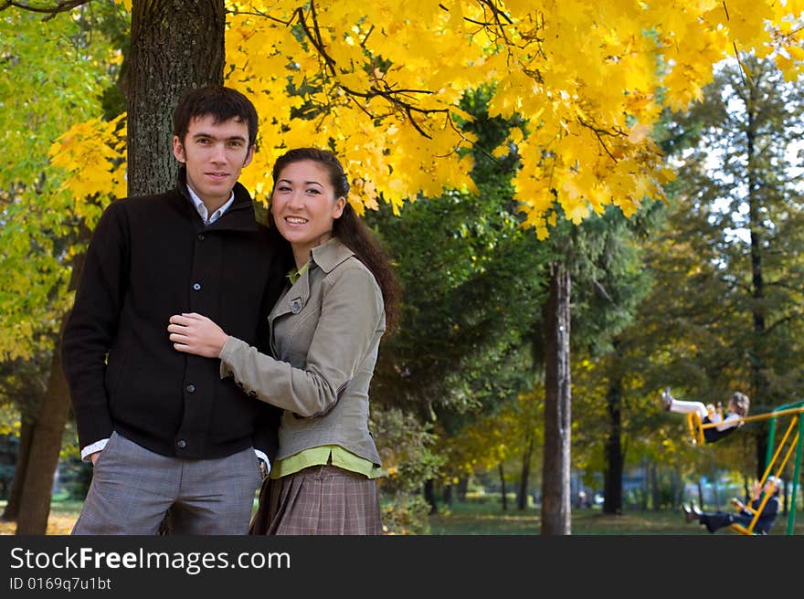
[{"label": "sparse green-brown foliage of the tall tree above the swings", "polygon": [[[665,231],[648,245],[658,279],[642,330],[672,333],[649,352],[666,384],[697,398],[735,389],[752,412],[801,396],[804,204],[795,154],[802,83],[763,61],[722,69],[674,125],[682,164]],[[758,278],[757,278],[758,277]],[[655,324],[654,324],[655,323]]]}]

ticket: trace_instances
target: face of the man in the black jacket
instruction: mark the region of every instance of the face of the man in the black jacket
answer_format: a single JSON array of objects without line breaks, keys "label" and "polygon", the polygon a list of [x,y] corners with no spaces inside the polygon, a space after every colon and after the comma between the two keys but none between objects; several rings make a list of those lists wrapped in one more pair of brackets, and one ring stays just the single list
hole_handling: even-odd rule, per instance
[{"label": "face of the man in the black jacket", "polygon": [[254,146],[249,146],[245,121],[215,122],[206,115],[190,121],[184,142],[174,137],[173,153],[187,167],[187,184],[208,210],[215,210],[229,199],[240,171],[254,157]]}]

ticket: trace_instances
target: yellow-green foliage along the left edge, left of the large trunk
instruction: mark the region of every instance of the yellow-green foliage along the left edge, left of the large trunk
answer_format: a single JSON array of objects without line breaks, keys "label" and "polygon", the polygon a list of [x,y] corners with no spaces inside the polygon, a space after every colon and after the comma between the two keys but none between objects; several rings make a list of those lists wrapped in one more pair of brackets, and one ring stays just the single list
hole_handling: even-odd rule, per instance
[{"label": "yellow-green foliage along the left edge, left of the large trunk", "polygon": [[48,149],[98,113],[114,71],[112,48],[85,20],[92,15],[61,14],[47,29],[26,11],[0,16],[0,144],[9,158],[0,163],[0,359],[52,347],[68,308],[70,200]]}]

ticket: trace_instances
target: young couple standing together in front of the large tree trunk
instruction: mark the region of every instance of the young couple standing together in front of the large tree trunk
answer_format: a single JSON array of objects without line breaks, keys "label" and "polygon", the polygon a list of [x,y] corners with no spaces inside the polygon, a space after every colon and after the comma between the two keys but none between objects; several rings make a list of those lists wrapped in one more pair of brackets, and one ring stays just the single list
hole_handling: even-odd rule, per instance
[{"label": "young couple standing together in front of the large tree trunk", "polygon": [[397,278],[331,152],[280,156],[258,224],[257,130],[238,91],[189,90],[175,189],[93,233],[62,345],[93,464],[73,534],[155,534],[168,510],[175,534],[382,533],[368,389]]}]

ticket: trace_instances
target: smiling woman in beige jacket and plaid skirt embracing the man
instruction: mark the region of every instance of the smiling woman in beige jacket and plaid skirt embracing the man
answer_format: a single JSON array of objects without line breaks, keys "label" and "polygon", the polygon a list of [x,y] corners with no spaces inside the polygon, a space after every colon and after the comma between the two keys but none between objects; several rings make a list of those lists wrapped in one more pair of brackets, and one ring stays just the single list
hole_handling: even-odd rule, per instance
[{"label": "smiling woman in beige jacket and plaid skirt embracing the man", "polygon": [[283,409],[252,534],[381,534],[368,389],[380,339],[396,321],[397,278],[348,203],[333,153],[286,152],[273,180],[271,220],[296,263],[269,317],[276,358],[196,313],[171,317],[170,341],[220,358],[222,377]]}]

